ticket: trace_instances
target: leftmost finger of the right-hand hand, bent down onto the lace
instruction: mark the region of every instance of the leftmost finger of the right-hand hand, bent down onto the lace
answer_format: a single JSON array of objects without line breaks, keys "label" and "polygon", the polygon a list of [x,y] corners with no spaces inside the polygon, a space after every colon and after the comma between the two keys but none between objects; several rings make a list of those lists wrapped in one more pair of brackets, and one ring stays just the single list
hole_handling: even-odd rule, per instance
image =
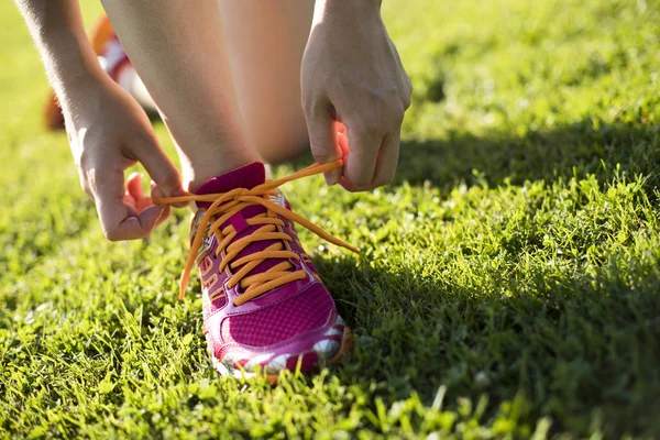
[{"label": "leftmost finger of the right-hand hand, bent down onto the lace", "polygon": [[[329,111],[315,114],[307,120],[311,155],[319,164],[327,164],[342,157],[338,143],[337,122]],[[342,176],[342,169],[332,169],[323,174],[328,185],[336,185]]]}]

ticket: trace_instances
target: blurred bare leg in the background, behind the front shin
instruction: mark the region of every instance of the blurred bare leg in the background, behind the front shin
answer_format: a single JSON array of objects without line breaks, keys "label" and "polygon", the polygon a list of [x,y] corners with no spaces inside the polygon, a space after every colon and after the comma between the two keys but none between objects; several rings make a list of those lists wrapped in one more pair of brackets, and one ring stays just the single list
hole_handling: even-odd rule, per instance
[{"label": "blurred bare leg in the background, behind the front shin", "polygon": [[308,143],[300,61],[314,0],[218,0],[239,106],[252,144],[268,162]]}]

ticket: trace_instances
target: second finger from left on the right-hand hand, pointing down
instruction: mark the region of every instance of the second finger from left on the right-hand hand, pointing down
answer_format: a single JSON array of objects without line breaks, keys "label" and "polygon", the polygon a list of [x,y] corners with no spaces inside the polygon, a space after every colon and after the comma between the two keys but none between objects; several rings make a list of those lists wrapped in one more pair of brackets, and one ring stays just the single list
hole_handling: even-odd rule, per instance
[{"label": "second finger from left on the right-hand hand, pointing down", "polygon": [[344,163],[344,177],[353,187],[369,186],[376,170],[376,161],[383,136],[348,127],[350,151]]}]

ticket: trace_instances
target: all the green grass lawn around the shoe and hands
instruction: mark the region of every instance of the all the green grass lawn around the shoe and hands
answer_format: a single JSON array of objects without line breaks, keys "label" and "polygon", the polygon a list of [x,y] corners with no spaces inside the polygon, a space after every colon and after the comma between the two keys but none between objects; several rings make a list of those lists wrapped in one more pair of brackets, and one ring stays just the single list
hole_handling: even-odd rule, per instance
[{"label": "all the green grass lawn around the shoe and hands", "polygon": [[286,188],[363,250],[301,233],[355,351],[275,388],[210,367],[186,213],[105,241],[0,6],[0,437],[660,436],[658,6],[384,3],[415,85],[396,183]]}]

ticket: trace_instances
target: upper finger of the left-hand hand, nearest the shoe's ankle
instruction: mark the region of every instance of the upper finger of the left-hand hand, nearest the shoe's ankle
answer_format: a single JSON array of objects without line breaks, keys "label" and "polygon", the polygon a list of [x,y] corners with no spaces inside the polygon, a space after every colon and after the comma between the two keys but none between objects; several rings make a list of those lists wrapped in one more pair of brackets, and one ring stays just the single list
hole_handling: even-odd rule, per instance
[{"label": "upper finger of the left-hand hand, nearest the shoe's ankle", "polygon": [[166,197],[183,196],[182,177],[169,157],[163,152],[157,141],[152,136],[145,136],[135,141],[135,158],[142,163],[152,180],[163,190]]}]

